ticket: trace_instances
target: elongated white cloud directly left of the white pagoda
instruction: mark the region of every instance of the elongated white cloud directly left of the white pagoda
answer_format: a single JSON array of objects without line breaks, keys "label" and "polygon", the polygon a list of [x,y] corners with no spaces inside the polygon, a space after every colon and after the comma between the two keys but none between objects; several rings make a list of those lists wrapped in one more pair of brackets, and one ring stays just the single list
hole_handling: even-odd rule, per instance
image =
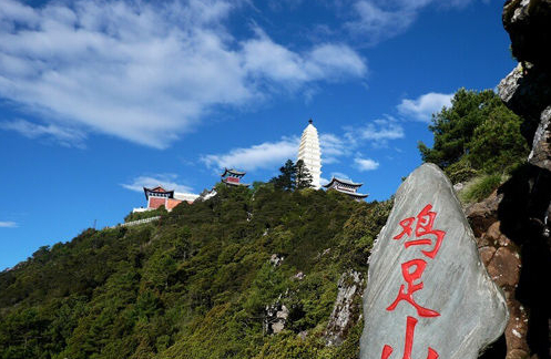
[{"label": "elongated white cloud directly left of the white pagoda", "polygon": [[273,168],[286,160],[295,160],[298,153],[299,140],[284,137],[278,142],[264,142],[246,148],[234,148],[227,154],[210,154],[201,157],[208,167],[223,167],[253,171],[256,168]]}]

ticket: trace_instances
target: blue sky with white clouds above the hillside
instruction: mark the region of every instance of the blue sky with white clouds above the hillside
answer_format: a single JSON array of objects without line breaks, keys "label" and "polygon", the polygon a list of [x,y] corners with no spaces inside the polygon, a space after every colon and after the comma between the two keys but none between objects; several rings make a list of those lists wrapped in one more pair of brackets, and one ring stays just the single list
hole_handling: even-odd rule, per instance
[{"label": "blue sky with white clouds above the hillside", "polygon": [[501,0],[0,0],[0,269],[123,220],[143,185],[200,193],[295,160],[386,199],[430,114],[513,66]]}]

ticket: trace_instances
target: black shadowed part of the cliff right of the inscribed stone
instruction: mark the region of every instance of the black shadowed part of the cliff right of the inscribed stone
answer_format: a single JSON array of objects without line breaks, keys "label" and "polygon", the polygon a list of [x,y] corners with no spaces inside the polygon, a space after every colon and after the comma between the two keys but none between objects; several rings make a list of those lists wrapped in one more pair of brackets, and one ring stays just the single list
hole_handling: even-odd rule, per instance
[{"label": "black shadowed part of the cliff right of the inscribed stone", "polygon": [[551,288],[551,250],[544,223],[551,203],[551,173],[526,165],[499,193],[503,194],[498,208],[500,230],[521,247],[517,299],[529,312],[528,345],[538,359],[550,359],[551,297],[545,291]]}]

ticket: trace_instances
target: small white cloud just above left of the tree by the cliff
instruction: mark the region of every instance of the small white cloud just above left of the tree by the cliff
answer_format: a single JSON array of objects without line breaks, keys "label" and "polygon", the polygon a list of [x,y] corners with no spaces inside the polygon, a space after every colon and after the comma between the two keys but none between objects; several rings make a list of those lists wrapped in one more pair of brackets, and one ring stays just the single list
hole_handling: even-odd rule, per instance
[{"label": "small white cloud just above left of the tree by the cliff", "polygon": [[417,121],[430,122],[432,113],[439,112],[443,106],[451,105],[453,94],[429,92],[415,100],[404,99],[397,106],[398,112]]}]

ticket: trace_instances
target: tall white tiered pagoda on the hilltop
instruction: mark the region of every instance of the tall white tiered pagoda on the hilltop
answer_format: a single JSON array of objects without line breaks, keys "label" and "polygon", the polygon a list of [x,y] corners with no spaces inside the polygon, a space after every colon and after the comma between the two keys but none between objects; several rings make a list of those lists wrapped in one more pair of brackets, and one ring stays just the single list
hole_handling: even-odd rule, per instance
[{"label": "tall white tiered pagoda on the hilltop", "polygon": [[317,130],[312,122],[312,119],[308,120],[308,125],[303,131],[297,160],[303,160],[306,168],[312,174],[312,186],[319,189],[322,187],[319,183],[322,177],[322,151],[319,150]]}]

